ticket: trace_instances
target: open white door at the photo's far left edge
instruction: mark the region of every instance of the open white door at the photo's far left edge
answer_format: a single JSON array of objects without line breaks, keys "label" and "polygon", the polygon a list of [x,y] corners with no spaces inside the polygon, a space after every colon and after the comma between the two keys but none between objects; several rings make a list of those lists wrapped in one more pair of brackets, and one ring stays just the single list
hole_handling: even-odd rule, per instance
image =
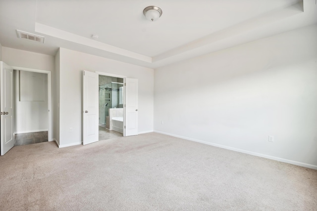
[{"label": "open white door at the photo's far left edge", "polygon": [[13,112],[13,68],[0,62],[0,155],[14,146]]}]

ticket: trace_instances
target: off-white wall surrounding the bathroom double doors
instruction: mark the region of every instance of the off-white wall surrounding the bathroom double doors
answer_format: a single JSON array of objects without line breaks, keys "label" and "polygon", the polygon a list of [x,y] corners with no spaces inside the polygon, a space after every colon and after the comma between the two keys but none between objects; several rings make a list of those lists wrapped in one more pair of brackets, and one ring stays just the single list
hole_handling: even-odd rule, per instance
[{"label": "off-white wall surrounding the bathroom double doors", "polygon": [[[83,70],[117,74],[139,80],[139,133],[153,131],[153,69],[60,48],[59,144],[82,142]],[[72,127],[73,131],[69,132]]]}]

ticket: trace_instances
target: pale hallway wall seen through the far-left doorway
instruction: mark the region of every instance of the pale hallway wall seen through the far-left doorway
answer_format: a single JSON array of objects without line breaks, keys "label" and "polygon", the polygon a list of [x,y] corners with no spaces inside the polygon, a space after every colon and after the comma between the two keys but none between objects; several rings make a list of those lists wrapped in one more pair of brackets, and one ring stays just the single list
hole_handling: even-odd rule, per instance
[{"label": "pale hallway wall seen through the far-left doorway", "polygon": [[14,70],[14,99],[14,133],[48,130],[47,74]]}]

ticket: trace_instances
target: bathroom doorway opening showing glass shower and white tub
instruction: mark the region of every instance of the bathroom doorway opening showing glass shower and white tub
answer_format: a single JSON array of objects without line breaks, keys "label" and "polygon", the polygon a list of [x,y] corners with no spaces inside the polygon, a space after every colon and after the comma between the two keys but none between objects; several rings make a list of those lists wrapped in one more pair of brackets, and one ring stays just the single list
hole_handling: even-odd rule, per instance
[{"label": "bathroom doorway opening showing glass shower and white tub", "polygon": [[123,136],[123,78],[99,75],[99,140]]}]

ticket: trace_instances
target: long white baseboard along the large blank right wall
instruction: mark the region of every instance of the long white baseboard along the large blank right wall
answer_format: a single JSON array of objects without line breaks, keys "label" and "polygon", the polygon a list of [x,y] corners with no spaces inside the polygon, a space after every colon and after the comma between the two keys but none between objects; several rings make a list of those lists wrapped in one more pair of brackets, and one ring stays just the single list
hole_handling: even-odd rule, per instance
[{"label": "long white baseboard along the large blank right wall", "polygon": [[186,140],[189,140],[189,141],[195,141],[195,142],[199,142],[199,143],[203,143],[203,144],[208,144],[208,145],[211,145],[211,146],[220,147],[220,148],[223,148],[223,149],[228,149],[228,150],[232,150],[232,151],[236,151],[236,152],[242,152],[242,153],[245,153],[245,154],[254,155],[254,156],[258,156],[258,157],[262,157],[262,158],[267,158],[267,159],[274,160],[274,161],[280,161],[280,162],[283,162],[283,163],[293,164],[293,165],[296,165],[296,166],[301,166],[301,167],[306,167],[306,168],[309,168],[309,169],[316,169],[317,170],[317,166],[316,165],[312,165],[312,164],[306,164],[306,163],[302,163],[302,162],[298,162],[298,161],[292,161],[292,160],[287,160],[287,159],[284,159],[284,158],[278,158],[278,157],[274,157],[274,156],[270,156],[270,155],[264,155],[264,154],[257,153],[257,152],[251,152],[251,151],[238,149],[238,148],[234,148],[234,147],[228,147],[228,146],[224,146],[224,145],[221,145],[221,144],[215,144],[215,143],[202,141],[202,140],[198,140],[198,139],[194,139],[194,138],[188,138],[188,137],[181,136],[181,135],[174,135],[174,134],[171,134],[171,133],[162,132],[162,131],[158,131],[158,130],[154,130],[154,132],[165,134],[165,135],[170,135],[170,136],[177,137],[177,138],[186,139]]}]

